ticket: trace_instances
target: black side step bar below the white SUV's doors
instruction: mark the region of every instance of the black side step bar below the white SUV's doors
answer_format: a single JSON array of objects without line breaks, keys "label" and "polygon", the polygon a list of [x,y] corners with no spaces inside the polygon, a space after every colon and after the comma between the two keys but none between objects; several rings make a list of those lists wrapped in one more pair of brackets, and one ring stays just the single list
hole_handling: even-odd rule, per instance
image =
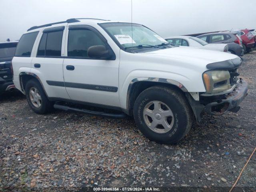
[{"label": "black side step bar below the white SUV's doors", "polygon": [[59,104],[54,104],[54,108],[59,110],[65,110],[65,111],[81,112],[89,115],[102,116],[107,118],[116,118],[116,119],[126,118],[126,114],[124,113],[119,113],[119,114],[106,113],[106,112],[92,111],[87,109],[73,108],[73,107],[68,107],[68,106],[59,105]]}]

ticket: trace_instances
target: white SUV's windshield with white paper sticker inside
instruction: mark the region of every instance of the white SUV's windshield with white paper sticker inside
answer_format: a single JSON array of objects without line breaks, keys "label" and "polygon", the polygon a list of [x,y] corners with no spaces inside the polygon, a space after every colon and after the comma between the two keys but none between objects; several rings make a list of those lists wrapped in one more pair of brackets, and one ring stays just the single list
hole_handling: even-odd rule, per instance
[{"label": "white SUV's windshield with white paper sticker inside", "polygon": [[[103,23],[102,28],[124,49],[160,49],[172,47],[161,36],[139,24]],[[148,50],[149,51],[149,50]]]}]

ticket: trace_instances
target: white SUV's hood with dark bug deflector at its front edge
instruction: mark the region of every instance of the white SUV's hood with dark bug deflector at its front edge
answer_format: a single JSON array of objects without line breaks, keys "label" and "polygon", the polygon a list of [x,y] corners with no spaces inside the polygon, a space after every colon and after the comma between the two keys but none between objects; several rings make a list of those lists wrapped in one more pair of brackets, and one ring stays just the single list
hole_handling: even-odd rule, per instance
[{"label": "white SUV's hood with dark bug deflector at its front edge", "polygon": [[[184,70],[204,72],[209,69],[232,69],[240,66],[241,59],[227,52],[220,52],[205,48],[177,46],[152,52],[136,53],[144,56],[144,60],[153,64],[164,64]],[[136,59],[136,57],[134,58]],[[233,64],[235,62],[235,64]],[[215,66],[217,63],[217,66]],[[211,65],[208,65],[211,64]],[[160,66],[160,65],[159,65]],[[161,65],[163,66],[163,65]]]}]

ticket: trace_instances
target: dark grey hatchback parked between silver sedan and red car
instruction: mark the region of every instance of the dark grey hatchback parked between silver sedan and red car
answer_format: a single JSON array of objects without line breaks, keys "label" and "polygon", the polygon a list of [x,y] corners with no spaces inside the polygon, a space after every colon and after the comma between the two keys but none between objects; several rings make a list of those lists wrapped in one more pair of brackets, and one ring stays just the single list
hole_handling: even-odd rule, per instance
[{"label": "dark grey hatchback parked between silver sedan and red car", "polygon": [[236,54],[237,56],[243,56],[244,54],[240,38],[236,33],[217,32],[203,34],[197,37],[208,43],[226,43],[228,44],[228,51],[232,54]]}]

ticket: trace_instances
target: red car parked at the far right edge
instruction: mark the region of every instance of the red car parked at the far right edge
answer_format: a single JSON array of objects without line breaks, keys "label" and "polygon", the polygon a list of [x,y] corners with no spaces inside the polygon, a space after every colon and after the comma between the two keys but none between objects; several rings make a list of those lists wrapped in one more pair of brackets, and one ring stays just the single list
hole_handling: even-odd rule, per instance
[{"label": "red car parked at the far right edge", "polygon": [[256,36],[254,29],[243,29],[240,31],[244,52],[249,52],[251,48],[255,47]]}]

